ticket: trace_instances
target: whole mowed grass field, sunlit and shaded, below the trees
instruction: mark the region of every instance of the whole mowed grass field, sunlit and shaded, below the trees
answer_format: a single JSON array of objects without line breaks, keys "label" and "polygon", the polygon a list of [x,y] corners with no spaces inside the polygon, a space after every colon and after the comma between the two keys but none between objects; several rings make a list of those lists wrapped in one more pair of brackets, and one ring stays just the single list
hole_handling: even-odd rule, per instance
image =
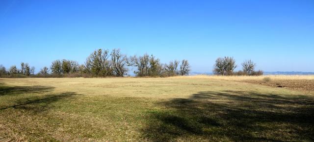
[{"label": "whole mowed grass field, sunlit and shaded, below the trees", "polygon": [[314,141],[311,92],[218,78],[0,79],[0,116],[22,141]]}]

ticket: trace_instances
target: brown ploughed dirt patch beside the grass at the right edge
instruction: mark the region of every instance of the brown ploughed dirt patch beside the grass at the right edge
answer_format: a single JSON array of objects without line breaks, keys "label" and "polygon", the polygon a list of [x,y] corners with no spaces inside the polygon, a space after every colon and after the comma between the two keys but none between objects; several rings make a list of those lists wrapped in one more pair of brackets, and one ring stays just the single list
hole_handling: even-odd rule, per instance
[{"label": "brown ploughed dirt patch beside the grass at the right edge", "polygon": [[288,88],[291,90],[314,92],[314,80],[272,80],[272,81],[257,81],[247,80],[249,83],[259,83],[262,85]]}]

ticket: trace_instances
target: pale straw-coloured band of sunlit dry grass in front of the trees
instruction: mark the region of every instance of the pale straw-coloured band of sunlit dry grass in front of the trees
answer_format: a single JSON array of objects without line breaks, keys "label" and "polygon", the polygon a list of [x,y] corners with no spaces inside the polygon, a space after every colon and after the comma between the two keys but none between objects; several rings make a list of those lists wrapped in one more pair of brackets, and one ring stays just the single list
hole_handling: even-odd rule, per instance
[{"label": "pale straw-coloured band of sunlit dry grass in front of the trees", "polygon": [[[187,98],[199,91],[246,89],[245,83],[193,78],[17,78],[0,79],[0,82],[9,86],[51,86],[52,93],[157,99]],[[265,86],[252,86],[268,90]]]}]

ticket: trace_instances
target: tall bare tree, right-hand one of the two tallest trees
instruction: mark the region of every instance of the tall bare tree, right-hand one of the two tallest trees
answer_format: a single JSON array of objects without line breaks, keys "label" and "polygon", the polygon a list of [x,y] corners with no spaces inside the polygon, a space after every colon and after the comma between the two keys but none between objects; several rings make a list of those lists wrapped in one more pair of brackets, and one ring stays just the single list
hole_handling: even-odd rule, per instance
[{"label": "tall bare tree, right-hand one of the two tallest trees", "polygon": [[120,49],[113,49],[110,55],[111,55],[113,74],[117,77],[123,77],[128,71],[127,56],[121,54]]}]

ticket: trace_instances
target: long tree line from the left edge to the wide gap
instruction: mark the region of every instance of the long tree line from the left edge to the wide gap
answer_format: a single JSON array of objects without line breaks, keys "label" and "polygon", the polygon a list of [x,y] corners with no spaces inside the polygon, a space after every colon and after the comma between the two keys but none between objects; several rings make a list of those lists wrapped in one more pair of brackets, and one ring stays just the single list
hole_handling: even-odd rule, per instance
[{"label": "long tree line from the left edge to the wide gap", "polygon": [[[179,67],[180,65],[180,67]],[[120,49],[97,49],[92,52],[84,64],[72,60],[55,60],[50,67],[43,67],[35,75],[35,67],[28,63],[21,63],[18,69],[15,65],[7,71],[0,65],[0,77],[124,77],[128,76],[130,67],[135,67],[137,77],[169,77],[188,75],[190,66],[187,60],[170,61],[162,64],[160,59],[153,55],[128,57]]]}]

